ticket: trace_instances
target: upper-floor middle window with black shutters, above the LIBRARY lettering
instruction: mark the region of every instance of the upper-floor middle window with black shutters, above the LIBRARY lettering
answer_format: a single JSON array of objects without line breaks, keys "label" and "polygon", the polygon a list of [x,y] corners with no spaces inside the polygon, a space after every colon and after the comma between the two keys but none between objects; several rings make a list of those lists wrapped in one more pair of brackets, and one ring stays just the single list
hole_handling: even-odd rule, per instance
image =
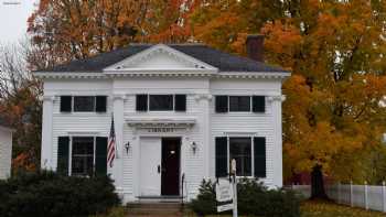
[{"label": "upper-floor middle window with black shutters, above the LIBRARY lettering", "polygon": [[186,95],[137,95],[137,111],[186,111]]}]

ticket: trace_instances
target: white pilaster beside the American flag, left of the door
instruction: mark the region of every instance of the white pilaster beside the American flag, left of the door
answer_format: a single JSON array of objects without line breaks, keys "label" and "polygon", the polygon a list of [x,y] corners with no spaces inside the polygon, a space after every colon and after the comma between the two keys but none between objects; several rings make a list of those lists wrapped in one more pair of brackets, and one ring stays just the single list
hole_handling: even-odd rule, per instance
[{"label": "white pilaster beside the American flag, left of the door", "polygon": [[124,191],[124,158],[126,154],[124,153],[125,141],[124,141],[124,100],[125,95],[116,94],[112,98],[114,102],[114,122],[115,122],[115,132],[116,132],[116,143],[117,143],[117,156],[112,166],[112,178],[115,181],[115,186],[118,193],[122,193]]}]

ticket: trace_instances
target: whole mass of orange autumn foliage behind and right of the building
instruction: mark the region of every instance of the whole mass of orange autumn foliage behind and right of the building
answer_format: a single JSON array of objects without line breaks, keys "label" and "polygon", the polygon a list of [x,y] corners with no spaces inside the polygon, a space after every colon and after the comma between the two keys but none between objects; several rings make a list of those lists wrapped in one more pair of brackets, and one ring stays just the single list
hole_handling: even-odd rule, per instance
[{"label": "whole mass of orange autumn foliage behind and right of the building", "polygon": [[292,73],[286,176],[319,166],[340,181],[379,182],[386,170],[369,159],[385,150],[385,23],[384,0],[42,0],[29,33],[46,56],[36,67],[131,42],[204,42],[246,55],[247,35],[264,34],[266,62]]}]

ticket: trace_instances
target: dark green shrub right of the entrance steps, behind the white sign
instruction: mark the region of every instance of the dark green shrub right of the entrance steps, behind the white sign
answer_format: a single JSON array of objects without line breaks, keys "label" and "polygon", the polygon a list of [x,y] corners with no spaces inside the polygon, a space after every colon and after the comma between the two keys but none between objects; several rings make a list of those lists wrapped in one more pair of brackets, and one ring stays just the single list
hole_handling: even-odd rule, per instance
[{"label": "dark green shrub right of the entrance steps, behind the white sign", "polygon": [[[300,197],[292,191],[268,189],[256,180],[242,180],[237,184],[238,213],[247,216],[299,217]],[[203,181],[191,208],[200,215],[216,213],[215,183]]]}]

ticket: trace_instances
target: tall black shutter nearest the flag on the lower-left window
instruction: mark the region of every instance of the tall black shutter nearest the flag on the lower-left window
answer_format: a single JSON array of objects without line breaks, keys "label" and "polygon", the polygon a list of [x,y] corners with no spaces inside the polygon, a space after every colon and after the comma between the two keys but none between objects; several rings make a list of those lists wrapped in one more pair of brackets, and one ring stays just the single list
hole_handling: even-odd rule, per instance
[{"label": "tall black shutter nearest the flag on the lower-left window", "polygon": [[96,151],[95,151],[95,174],[107,174],[107,138],[96,138]]}]

